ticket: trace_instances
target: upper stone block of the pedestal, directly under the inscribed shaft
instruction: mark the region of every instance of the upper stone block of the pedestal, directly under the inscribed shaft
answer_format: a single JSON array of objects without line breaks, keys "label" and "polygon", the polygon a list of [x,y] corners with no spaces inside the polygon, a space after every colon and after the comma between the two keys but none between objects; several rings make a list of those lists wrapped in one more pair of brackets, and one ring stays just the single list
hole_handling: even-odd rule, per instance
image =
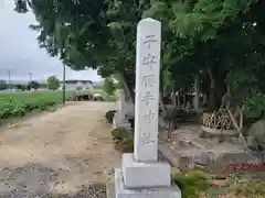
[{"label": "upper stone block of the pedestal, directly under the inscribed shaft", "polygon": [[134,154],[123,155],[123,176],[126,188],[162,187],[171,185],[171,166],[162,162],[136,162]]}]

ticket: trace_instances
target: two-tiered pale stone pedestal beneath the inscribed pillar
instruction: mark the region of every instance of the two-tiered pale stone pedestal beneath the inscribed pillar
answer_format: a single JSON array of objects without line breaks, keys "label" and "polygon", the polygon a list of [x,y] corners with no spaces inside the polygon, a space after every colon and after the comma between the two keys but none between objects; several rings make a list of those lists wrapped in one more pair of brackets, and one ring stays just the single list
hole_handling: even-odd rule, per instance
[{"label": "two-tiered pale stone pedestal beneath the inscribed pillar", "polygon": [[181,191],[171,185],[168,163],[136,162],[129,153],[115,169],[115,198],[181,198]]}]

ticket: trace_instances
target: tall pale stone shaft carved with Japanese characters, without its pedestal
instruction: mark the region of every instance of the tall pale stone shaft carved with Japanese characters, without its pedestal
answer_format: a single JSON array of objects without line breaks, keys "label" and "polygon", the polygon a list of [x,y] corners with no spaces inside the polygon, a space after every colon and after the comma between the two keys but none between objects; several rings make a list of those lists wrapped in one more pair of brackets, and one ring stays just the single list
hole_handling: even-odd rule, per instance
[{"label": "tall pale stone shaft carved with Japanese characters, without its pedestal", "polygon": [[157,161],[161,23],[146,19],[137,26],[135,160]]}]

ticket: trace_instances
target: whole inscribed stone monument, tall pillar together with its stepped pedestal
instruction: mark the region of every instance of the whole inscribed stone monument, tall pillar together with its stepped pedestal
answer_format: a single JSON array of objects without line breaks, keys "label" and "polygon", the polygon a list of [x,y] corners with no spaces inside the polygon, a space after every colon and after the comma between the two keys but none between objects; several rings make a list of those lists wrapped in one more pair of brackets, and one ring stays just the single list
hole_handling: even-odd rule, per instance
[{"label": "whole inscribed stone monument, tall pillar together with its stepped pedestal", "polygon": [[171,166],[158,161],[161,23],[144,19],[137,26],[135,151],[115,169],[116,198],[181,198],[171,186]]}]

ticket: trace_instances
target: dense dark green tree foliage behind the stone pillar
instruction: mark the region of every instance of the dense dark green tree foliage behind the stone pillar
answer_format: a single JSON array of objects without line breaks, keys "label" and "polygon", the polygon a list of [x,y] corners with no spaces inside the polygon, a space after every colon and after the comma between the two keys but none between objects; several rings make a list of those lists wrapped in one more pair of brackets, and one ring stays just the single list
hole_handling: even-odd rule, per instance
[{"label": "dense dark green tree foliage behind the stone pillar", "polygon": [[[96,68],[103,77],[120,73],[134,90],[136,25],[151,16],[163,25],[167,86],[189,90],[199,75],[212,108],[226,85],[246,109],[265,108],[262,0],[31,0],[28,6],[40,46],[73,69]],[[24,4],[17,3],[17,11],[25,12]]]}]

